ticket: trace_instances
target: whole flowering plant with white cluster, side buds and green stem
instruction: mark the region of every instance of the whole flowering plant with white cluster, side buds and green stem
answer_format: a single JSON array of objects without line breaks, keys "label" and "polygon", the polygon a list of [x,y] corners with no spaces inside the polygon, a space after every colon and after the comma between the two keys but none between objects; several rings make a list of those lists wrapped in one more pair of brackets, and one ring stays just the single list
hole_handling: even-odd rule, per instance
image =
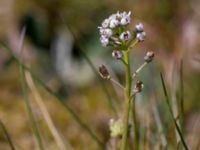
[{"label": "whole flowering plant with white cluster, side buds and green stem", "polygon": [[129,31],[128,25],[130,22],[131,12],[117,12],[105,19],[101,26],[98,27],[102,46],[110,46],[113,49],[112,57],[121,61],[125,68],[125,85],[123,86],[112,78],[105,65],[99,67],[99,73],[103,79],[117,84],[124,90],[125,109],[123,110],[123,119],[118,118],[116,121],[112,119],[110,123],[111,136],[122,137],[120,142],[121,150],[126,149],[128,139],[131,138],[129,136],[131,132],[129,127],[133,129],[134,133],[134,149],[138,150],[139,148],[139,129],[135,111],[135,97],[138,93],[142,92],[143,83],[138,80],[138,75],[154,58],[154,52],[147,52],[144,56],[144,63],[135,72],[131,72],[130,52],[136,44],[144,41],[146,33],[144,32],[142,23],[136,24],[135,29]]}]

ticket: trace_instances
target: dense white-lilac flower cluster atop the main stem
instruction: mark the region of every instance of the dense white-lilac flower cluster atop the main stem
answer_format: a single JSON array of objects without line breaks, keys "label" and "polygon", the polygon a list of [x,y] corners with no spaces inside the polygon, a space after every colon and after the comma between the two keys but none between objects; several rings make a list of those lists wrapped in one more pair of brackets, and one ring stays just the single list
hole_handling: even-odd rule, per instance
[{"label": "dense white-lilac flower cluster atop the main stem", "polygon": [[116,30],[130,23],[130,15],[131,12],[117,12],[102,22],[101,26],[98,28],[101,35],[100,41],[104,47],[109,43],[121,44],[122,41],[128,41],[131,38],[131,33],[129,31],[119,33],[119,31]]}]

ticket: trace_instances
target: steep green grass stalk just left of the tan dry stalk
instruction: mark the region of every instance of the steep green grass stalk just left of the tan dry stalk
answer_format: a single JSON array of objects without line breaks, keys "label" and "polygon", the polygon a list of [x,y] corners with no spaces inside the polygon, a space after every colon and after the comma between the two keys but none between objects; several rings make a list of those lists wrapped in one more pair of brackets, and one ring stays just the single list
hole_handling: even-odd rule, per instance
[{"label": "steep green grass stalk just left of the tan dry stalk", "polygon": [[43,146],[43,142],[42,142],[42,138],[41,138],[41,135],[40,135],[40,131],[37,127],[37,124],[36,124],[36,121],[35,121],[35,118],[34,118],[34,115],[33,115],[33,111],[32,111],[32,108],[31,108],[31,104],[29,102],[29,99],[28,99],[28,91],[27,91],[27,86],[26,86],[26,83],[25,83],[25,75],[24,75],[24,68],[21,64],[19,64],[19,67],[20,67],[20,77],[21,77],[21,85],[22,85],[22,91],[23,91],[23,96],[24,96],[24,103],[26,105],[26,109],[27,109],[27,112],[28,112],[28,116],[29,116],[29,119],[31,121],[31,125],[32,125],[32,129],[33,129],[33,133],[35,135],[35,138],[36,138],[36,141],[38,143],[38,146],[39,146],[39,149],[40,150],[44,150],[44,146]]}]

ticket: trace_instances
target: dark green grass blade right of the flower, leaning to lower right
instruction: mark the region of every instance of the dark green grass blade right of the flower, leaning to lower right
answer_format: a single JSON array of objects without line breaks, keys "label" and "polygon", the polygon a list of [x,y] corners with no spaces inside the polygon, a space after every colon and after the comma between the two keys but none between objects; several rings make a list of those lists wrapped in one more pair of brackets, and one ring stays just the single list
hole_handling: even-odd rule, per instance
[{"label": "dark green grass blade right of the flower, leaning to lower right", "polygon": [[172,108],[171,108],[171,105],[170,105],[170,102],[169,102],[169,97],[168,97],[168,94],[167,94],[167,89],[166,89],[166,86],[165,86],[165,82],[164,82],[164,78],[162,76],[162,73],[160,73],[160,77],[161,77],[161,81],[162,81],[162,87],[163,87],[163,91],[164,91],[164,95],[165,95],[165,99],[166,99],[166,102],[167,102],[167,106],[168,106],[168,109],[169,109],[169,112],[170,112],[170,115],[173,119],[173,122],[174,122],[174,125],[176,127],[176,131],[178,132],[179,136],[180,136],[180,139],[181,139],[181,142],[185,148],[185,150],[189,150],[188,149],[188,146],[185,142],[185,139],[183,137],[183,134],[181,133],[181,129],[180,127],[178,126],[177,122],[176,122],[176,118],[174,118],[174,115],[173,115],[173,111],[172,111]]}]

